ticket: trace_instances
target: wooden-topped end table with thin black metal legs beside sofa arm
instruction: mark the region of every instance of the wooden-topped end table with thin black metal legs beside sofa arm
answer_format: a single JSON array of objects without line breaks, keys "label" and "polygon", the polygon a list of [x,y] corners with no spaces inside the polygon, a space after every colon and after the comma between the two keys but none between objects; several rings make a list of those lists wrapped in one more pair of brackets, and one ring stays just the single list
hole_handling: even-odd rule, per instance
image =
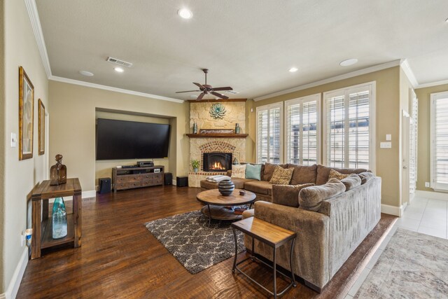
[{"label": "wooden-topped end table with thin black metal legs beside sofa arm", "polygon": [[[233,267],[232,272],[235,273],[235,270],[243,274],[245,277],[250,279],[253,283],[257,284],[261,288],[263,288],[265,291],[267,291],[269,294],[274,295],[274,298],[277,298],[277,296],[281,296],[286,291],[288,291],[291,286],[297,286],[295,283],[295,277],[294,277],[294,271],[293,271],[293,249],[295,244],[295,237],[297,234],[291,230],[287,230],[286,228],[281,228],[278,225],[274,225],[272,223],[262,221],[259,218],[250,217],[246,218],[241,221],[237,221],[232,223],[232,230],[233,235],[235,237],[235,259],[233,260]],[[237,256],[238,256],[238,239],[237,239],[237,232],[235,230],[240,230],[241,232],[244,232],[245,234],[252,237],[252,255],[248,258],[245,258],[244,260],[241,260],[237,263]],[[272,247],[274,250],[273,254],[273,265],[269,265],[265,263],[263,260],[260,260],[255,256],[255,248],[254,248],[254,239],[258,239],[258,241],[263,242],[269,246]],[[290,260],[290,270],[291,270],[291,276],[288,277],[288,275],[283,274],[279,270],[276,270],[276,249],[288,242],[291,241],[291,250],[289,253],[289,260]],[[274,291],[269,291],[267,288],[262,286],[258,281],[255,281],[252,277],[248,276],[248,274],[241,271],[237,265],[244,263],[246,260],[258,260],[260,263],[263,263],[270,267],[272,270],[274,270]],[[286,286],[286,288],[283,289],[280,293],[277,293],[277,285],[276,285],[276,272],[279,272],[279,274],[283,275],[283,277],[286,277],[290,279],[290,284]]]}]

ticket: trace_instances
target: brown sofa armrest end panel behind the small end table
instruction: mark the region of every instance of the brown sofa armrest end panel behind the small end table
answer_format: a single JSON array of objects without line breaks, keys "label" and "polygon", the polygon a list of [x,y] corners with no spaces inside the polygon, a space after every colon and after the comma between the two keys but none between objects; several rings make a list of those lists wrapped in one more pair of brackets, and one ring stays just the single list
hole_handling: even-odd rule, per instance
[{"label": "brown sofa armrest end panel behind the small end table", "polygon": [[[320,288],[330,279],[328,272],[328,228],[324,214],[281,204],[255,202],[255,217],[297,233],[293,254],[294,272]],[[261,246],[262,247],[262,246]],[[264,249],[266,252],[266,249]],[[289,268],[290,244],[279,249],[279,261]],[[280,263],[282,264],[282,263]]]}]

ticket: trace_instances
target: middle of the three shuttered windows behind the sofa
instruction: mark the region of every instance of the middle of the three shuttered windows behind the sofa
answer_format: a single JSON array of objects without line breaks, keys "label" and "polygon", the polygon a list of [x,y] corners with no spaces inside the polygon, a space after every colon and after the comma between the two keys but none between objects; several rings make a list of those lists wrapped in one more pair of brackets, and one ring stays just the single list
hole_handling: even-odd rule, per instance
[{"label": "middle of the three shuttered windows behind the sofa", "polygon": [[321,94],[291,99],[286,104],[286,162],[317,164],[320,156]]}]

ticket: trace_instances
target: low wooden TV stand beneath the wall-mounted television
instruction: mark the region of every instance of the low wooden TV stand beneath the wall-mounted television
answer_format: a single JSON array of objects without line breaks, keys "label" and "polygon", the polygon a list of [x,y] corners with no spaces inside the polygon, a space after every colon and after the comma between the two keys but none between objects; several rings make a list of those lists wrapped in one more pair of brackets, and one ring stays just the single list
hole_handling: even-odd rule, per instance
[{"label": "low wooden TV stand beneath the wall-mounted television", "polygon": [[[159,171],[159,172],[158,172]],[[132,188],[159,186],[164,184],[165,167],[130,167],[112,169],[113,192]]]}]

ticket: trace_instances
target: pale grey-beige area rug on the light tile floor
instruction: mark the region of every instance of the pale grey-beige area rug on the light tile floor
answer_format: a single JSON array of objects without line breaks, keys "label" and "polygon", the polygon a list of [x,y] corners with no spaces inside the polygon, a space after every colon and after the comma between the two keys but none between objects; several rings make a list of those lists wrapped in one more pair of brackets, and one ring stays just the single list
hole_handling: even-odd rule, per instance
[{"label": "pale grey-beige area rug on the light tile floor", "polygon": [[355,298],[447,298],[448,240],[398,228]]}]

